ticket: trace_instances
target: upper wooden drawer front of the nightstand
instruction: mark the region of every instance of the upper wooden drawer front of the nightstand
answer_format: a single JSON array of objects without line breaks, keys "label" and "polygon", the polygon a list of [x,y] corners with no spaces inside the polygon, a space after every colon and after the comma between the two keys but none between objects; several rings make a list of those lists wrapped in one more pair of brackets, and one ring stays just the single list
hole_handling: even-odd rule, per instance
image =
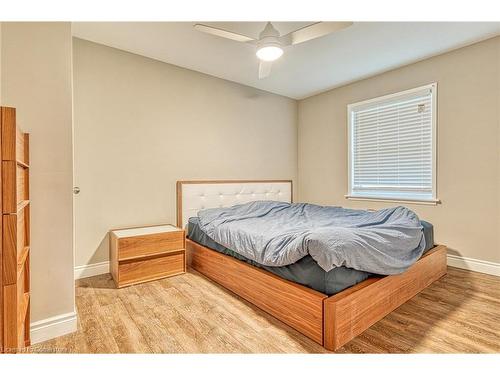
[{"label": "upper wooden drawer front of the nightstand", "polygon": [[118,260],[184,249],[184,232],[157,233],[118,239]]}]

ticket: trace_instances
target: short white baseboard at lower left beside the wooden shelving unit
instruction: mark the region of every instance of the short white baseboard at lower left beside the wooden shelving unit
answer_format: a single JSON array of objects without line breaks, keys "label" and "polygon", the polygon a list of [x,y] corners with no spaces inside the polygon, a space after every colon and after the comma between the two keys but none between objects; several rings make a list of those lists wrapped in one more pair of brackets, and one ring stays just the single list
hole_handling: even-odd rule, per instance
[{"label": "short white baseboard at lower left beside the wooden shelving unit", "polygon": [[31,344],[67,335],[77,329],[76,312],[61,314],[31,323]]}]

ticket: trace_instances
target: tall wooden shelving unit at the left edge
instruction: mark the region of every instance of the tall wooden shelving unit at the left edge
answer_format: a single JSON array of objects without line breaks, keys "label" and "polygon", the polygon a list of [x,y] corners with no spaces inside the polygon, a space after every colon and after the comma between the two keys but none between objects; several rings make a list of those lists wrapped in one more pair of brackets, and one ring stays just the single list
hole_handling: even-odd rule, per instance
[{"label": "tall wooden shelving unit at the left edge", "polygon": [[29,135],[0,107],[0,352],[30,345]]}]

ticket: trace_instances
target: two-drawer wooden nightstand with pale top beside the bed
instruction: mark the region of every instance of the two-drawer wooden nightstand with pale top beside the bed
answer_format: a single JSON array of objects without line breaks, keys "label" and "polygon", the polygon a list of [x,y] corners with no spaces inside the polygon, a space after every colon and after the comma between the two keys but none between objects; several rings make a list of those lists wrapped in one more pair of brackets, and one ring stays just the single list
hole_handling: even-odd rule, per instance
[{"label": "two-drawer wooden nightstand with pale top beside the bed", "polygon": [[186,272],[186,236],[174,225],[109,232],[110,269],[122,288]]}]

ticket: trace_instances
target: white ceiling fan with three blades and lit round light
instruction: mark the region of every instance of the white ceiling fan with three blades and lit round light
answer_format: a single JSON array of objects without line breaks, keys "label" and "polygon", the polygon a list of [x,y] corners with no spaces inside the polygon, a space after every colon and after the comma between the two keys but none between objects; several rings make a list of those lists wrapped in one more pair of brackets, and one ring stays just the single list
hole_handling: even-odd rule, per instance
[{"label": "white ceiling fan with three blades and lit round light", "polygon": [[246,35],[233,33],[232,31],[203,25],[201,23],[195,24],[194,28],[207,34],[256,45],[256,55],[260,60],[259,79],[262,79],[271,74],[272,63],[283,55],[284,47],[307,42],[345,29],[351,25],[352,22],[316,22],[292,31],[289,34],[280,35],[279,31],[274,28],[272,23],[268,22],[264,30],[260,33],[259,39],[250,38]]}]

